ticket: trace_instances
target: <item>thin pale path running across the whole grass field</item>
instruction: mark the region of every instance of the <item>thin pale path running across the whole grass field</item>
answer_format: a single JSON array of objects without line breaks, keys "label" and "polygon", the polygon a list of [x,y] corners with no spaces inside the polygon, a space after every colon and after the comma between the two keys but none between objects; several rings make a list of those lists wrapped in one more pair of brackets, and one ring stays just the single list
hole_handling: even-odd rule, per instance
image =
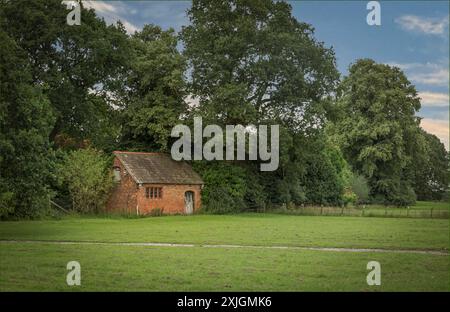
[{"label": "thin pale path running across the whole grass field", "polygon": [[285,250],[314,250],[333,252],[381,252],[408,253],[448,256],[448,251],[420,250],[420,249],[382,249],[382,248],[340,248],[340,247],[299,247],[299,246],[256,246],[256,245],[228,245],[228,244],[172,244],[172,243],[120,243],[120,242],[87,242],[87,241],[42,241],[42,240],[0,240],[1,244],[52,244],[52,245],[105,245],[105,246],[141,246],[141,247],[202,247],[202,248],[244,248],[244,249],[285,249]]}]

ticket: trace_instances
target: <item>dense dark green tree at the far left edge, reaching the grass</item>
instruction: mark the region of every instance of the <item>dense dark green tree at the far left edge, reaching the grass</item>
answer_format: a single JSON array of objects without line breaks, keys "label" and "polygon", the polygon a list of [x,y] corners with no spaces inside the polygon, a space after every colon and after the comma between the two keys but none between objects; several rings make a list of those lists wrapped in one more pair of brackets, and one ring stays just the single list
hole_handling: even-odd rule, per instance
[{"label": "dense dark green tree at the far left edge, reaching the grass", "polygon": [[54,121],[25,51],[0,29],[0,217],[35,218],[49,209]]}]

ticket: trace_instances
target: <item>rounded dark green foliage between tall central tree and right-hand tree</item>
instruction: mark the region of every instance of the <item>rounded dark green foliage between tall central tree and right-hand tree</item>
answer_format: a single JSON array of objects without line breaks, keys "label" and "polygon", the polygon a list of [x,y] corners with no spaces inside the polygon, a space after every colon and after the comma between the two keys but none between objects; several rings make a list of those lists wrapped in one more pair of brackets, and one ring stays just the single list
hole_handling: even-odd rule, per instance
[{"label": "rounded dark green foliage between tall central tree and right-hand tree", "polygon": [[272,192],[273,202],[342,203],[348,165],[339,148],[327,140],[323,131],[308,137],[293,135],[288,154],[279,172],[268,175],[267,191],[271,191],[273,184],[276,186]]}]

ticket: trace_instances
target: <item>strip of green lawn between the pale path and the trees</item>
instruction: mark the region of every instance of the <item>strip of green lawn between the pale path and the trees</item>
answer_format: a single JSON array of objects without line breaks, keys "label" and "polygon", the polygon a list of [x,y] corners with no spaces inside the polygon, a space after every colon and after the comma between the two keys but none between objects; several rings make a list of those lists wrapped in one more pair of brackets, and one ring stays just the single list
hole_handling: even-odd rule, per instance
[{"label": "strip of green lawn between the pale path and the trees", "polygon": [[71,218],[1,222],[0,240],[5,239],[448,249],[449,220],[256,213]]}]

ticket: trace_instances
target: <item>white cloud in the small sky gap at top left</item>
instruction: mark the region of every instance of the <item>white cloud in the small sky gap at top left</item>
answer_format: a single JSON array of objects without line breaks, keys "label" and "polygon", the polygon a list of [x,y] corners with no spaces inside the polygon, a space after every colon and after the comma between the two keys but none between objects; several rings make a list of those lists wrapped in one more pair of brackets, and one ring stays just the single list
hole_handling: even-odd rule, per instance
[{"label": "white cloud in the small sky gap at top left", "polygon": [[104,1],[83,0],[83,5],[88,9],[94,9],[97,15],[103,17],[108,24],[116,24],[120,20],[129,34],[139,30],[139,27],[123,17],[123,15],[127,14],[127,8],[120,1],[107,3]]}]

